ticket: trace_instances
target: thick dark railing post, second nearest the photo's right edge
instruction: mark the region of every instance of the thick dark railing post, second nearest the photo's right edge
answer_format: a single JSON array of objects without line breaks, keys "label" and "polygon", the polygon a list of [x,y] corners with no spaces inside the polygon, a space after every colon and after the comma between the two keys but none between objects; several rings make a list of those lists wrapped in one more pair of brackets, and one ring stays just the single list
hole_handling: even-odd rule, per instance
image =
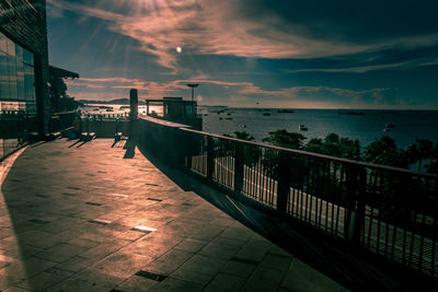
[{"label": "thick dark railing post, second nearest the photo's right edge", "polygon": [[278,187],[277,187],[277,210],[280,213],[287,212],[287,202],[290,194],[290,159],[286,152],[278,154]]}]

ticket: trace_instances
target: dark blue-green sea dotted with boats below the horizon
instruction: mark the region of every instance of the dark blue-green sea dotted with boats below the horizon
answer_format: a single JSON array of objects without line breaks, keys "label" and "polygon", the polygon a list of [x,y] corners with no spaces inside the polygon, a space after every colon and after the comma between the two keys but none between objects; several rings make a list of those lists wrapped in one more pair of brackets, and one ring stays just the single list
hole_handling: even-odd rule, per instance
[{"label": "dark blue-green sea dotted with boats below the horizon", "polygon": [[[113,109],[108,113],[107,106]],[[123,108],[120,108],[123,107]],[[89,105],[82,108],[90,114],[127,113],[122,105]],[[162,113],[160,107],[150,110]],[[139,106],[139,114],[146,106]],[[302,133],[307,139],[324,138],[331,132],[339,137],[357,139],[365,148],[382,136],[393,138],[400,148],[416,139],[428,139],[438,143],[438,110],[384,110],[384,109],[293,109],[293,108],[242,108],[226,106],[198,106],[203,116],[203,131],[232,135],[245,131],[262,141],[270,131],[286,129]],[[307,130],[300,130],[303,125]],[[302,128],[302,127],[301,127]]]}]

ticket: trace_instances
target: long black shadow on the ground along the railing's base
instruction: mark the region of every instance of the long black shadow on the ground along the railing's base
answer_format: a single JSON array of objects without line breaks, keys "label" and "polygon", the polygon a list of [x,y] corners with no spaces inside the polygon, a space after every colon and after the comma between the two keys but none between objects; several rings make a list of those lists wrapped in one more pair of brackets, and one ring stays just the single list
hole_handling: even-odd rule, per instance
[{"label": "long black shadow on the ground along the railing's base", "polygon": [[181,188],[196,192],[247,227],[345,287],[369,291],[404,291],[406,289],[429,291],[430,283],[419,283],[412,271],[405,270],[400,273],[400,269],[392,269],[393,267],[385,262],[381,266],[369,264],[364,260],[362,255],[355,255],[345,243],[327,240],[311,226],[303,227],[302,223],[297,224],[277,214],[263,212],[256,206],[244,203],[243,201],[247,202],[245,199],[242,201],[239,197],[228,196],[216,187],[201,183],[193,175],[166,165],[141,144],[138,148]]}]

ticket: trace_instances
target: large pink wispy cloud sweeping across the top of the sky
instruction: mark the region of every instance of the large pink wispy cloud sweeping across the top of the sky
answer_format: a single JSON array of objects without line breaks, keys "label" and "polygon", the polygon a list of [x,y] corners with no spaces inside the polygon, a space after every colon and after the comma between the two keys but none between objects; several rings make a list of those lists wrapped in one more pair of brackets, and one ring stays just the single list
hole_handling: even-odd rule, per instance
[{"label": "large pink wispy cloud sweeping across the top of the sky", "polygon": [[[126,8],[126,1],[106,1],[103,8],[66,0],[48,2],[58,10],[108,21],[110,30],[138,40],[142,50],[157,56],[158,63],[172,72],[178,70],[176,47],[183,48],[182,54],[189,51],[195,55],[315,58],[389,46],[427,45],[438,40],[436,33],[420,37],[394,36],[374,43],[315,37],[306,33],[303,24],[278,15],[258,15],[261,12],[256,10],[255,15],[249,16],[242,3],[231,0],[134,1],[129,13],[126,10],[125,13],[114,12],[118,7]],[[324,27],[320,28],[323,31]]]}]

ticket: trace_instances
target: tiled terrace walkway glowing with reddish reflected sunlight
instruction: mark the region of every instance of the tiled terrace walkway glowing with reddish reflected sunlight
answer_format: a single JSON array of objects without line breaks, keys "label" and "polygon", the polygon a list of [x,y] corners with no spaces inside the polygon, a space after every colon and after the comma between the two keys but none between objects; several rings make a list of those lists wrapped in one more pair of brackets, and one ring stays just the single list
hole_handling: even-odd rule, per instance
[{"label": "tiled terrace walkway glowing with reddish reflected sunlight", "polygon": [[0,290],[345,290],[112,143],[57,140],[2,162]]}]

